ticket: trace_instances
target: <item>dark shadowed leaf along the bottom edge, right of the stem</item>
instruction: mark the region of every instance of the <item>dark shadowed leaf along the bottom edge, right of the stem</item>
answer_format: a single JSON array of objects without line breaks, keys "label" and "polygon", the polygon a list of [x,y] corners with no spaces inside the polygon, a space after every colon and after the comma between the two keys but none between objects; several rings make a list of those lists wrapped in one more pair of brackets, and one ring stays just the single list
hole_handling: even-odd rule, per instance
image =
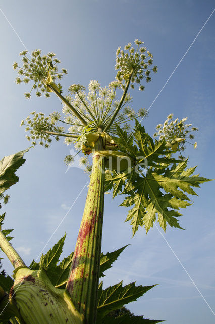
[{"label": "dark shadowed leaf along the bottom edge, right of the stem", "polygon": [[110,316],[105,316],[102,321],[97,322],[97,324],[156,324],[160,323],[163,320],[153,320],[146,319],[143,316],[132,316],[128,314],[112,318]]}]

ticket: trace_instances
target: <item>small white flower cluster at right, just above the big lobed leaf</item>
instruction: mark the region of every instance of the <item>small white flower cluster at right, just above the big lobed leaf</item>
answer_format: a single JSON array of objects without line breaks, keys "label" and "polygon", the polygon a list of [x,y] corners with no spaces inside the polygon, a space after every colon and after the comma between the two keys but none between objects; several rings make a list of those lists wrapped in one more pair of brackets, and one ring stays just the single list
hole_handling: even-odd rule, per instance
[{"label": "small white flower cluster at right, just above the big lobed leaf", "polygon": [[167,116],[164,124],[157,125],[157,132],[154,134],[154,137],[159,136],[159,140],[165,138],[167,142],[166,145],[172,148],[173,151],[179,151],[179,158],[182,160],[185,159],[185,157],[182,156],[181,151],[185,150],[186,142],[193,145],[194,148],[197,147],[197,142],[192,144],[187,139],[193,140],[195,136],[192,132],[198,131],[198,128],[191,127],[192,124],[185,124],[186,120],[187,117],[181,120],[178,120],[178,118],[173,120],[173,114],[171,113]]}]

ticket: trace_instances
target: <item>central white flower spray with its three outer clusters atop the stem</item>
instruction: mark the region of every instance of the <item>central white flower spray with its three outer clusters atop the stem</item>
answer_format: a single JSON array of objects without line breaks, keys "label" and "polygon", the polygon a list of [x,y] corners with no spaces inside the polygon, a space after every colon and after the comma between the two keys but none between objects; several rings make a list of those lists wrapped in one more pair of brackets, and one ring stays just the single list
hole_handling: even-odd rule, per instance
[{"label": "central white flower spray with its three outer clusters atop the stem", "polygon": [[[20,84],[21,82],[29,83],[32,81],[32,89],[36,90],[38,97],[41,96],[42,92],[45,97],[49,97],[49,92],[53,91],[60,97],[63,104],[63,118],[59,112],[53,112],[49,117],[45,117],[43,113],[33,112],[31,113],[32,118],[28,116],[25,121],[22,121],[21,125],[25,125],[26,131],[29,131],[26,138],[32,142],[32,145],[36,145],[37,140],[39,140],[40,145],[49,147],[52,141],[51,137],[59,140],[59,136],[64,136],[65,144],[73,143],[78,151],[85,154],[81,163],[85,164],[86,169],[90,171],[87,157],[94,144],[88,143],[85,138],[86,133],[89,135],[89,133],[105,132],[108,135],[116,135],[117,125],[129,132],[131,129],[130,121],[138,117],[146,117],[145,108],[136,113],[129,106],[132,97],[128,93],[128,86],[125,87],[125,82],[129,80],[132,88],[134,82],[140,84],[143,78],[146,78],[146,82],[149,82],[151,70],[156,72],[157,67],[150,68],[153,57],[144,47],[140,47],[143,42],[137,40],[135,43],[137,45],[136,52],[130,43],[125,47],[125,51],[128,53],[118,49],[117,56],[120,55],[120,57],[117,57],[116,69],[119,69],[119,71],[116,80],[112,81],[107,87],[101,87],[97,80],[91,80],[88,86],[89,91],[86,93],[84,86],[73,84],[69,87],[69,94],[65,97],[60,95],[61,85],[56,85],[55,80],[61,79],[63,73],[66,74],[67,70],[62,69],[61,72],[58,72],[57,64],[60,61],[55,58],[54,53],[41,56],[41,50],[35,50],[32,52],[31,59],[28,59],[27,51],[20,53],[23,67],[19,67],[16,62],[14,63],[14,69],[18,69],[19,74],[16,82]],[[20,76],[23,76],[23,79]],[[120,100],[117,99],[119,89],[121,91],[123,89]],[[141,84],[140,89],[144,89]],[[25,93],[26,98],[30,98],[31,91]],[[64,127],[58,126],[58,123],[63,123],[68,130],[64,131]],[[71,164],[73,158],[72,155],[66,156],[66,164]]]}]

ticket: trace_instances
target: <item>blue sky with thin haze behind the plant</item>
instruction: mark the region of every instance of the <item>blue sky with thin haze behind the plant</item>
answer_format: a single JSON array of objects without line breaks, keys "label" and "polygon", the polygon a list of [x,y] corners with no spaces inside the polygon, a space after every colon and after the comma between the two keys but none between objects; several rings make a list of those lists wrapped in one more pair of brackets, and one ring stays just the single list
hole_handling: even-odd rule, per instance
[{"label": "blue sky with thin haze behind the plant", "polygon": [[[132,107],[150,107],[144,121],[150,135],[170,113],[188,117],[188,122],[199,128],[197,149],[189,146],[186,151],[189,166],[198,165],[197,173],[214,178],[214,14],[199,33],[213,12],[212,1],[23,0],[19,4],[0,1],[0,8],[0,158],[29,146],[19,125],[31,111],[47,115],[61,111],[55,96],[45,99],[33,95],[26,100],[24,93],[30,86],[15,84],[12,65],[19,60],[24,45],[29,52],[41,48],[44,54],[57,54],[61,67],[68,69],[62,81],[66,94],[71,84],[87,87],[92,79],[108,85],[116,75],[117,47],[139,38],[153,53],[158,72],[144,92],[131,90]],[[11,199],[1,212],[6,211],[5,228],[15,228],[13,246],[26,264],[44,247],[44,252],[52,247],[65,231],[63,255],[74,249],[89,178],[78,168],[65,173],[63,159],[68,154],[69,147],[63,141],[49,149],[32,148],[17,172],[19,183],[8,191]],[[214,311],[214,182],[203,184],[197,193],[198,197],[191,197],[193,205],[182,211],[180,225],[185,231],[168,228],[160,234],[154,226],[147,235],[140,228],[134,238],[129,223],[124,223],[126,209],[118,207],[121,197],[112,202],[111,195],[106,195],[102,251],[130,245],[106,272],[104,286],[121,280],[124,284],[159,284],[128,305],[135,314],[174,324],[214,322],[209,308]],[[6,258],[3,265],[11,274],[13,269]]]}]

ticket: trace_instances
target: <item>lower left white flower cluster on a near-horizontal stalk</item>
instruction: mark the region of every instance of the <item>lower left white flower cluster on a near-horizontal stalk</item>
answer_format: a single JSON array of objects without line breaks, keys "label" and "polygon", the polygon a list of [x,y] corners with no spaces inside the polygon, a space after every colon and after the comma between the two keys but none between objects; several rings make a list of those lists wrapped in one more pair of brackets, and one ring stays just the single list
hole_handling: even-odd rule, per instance
[{"label": "lower left white flower cluster on a near-horizontal stalk", "polygon": [[29,131],[29,135],[26,135],[26,138],[28,141],[31,141],[32,145],[36,145],[36,141],[40,140],[39,144],[48,148],[49,144],[52,142],[52,136],[55,137],[57,141],[59,140],[58,133],[63,132],[63,127],[56,127],[51,121],[51,118],[44,117],[42,112],[36,113],[33,111],[31,112],[31,115],[32,120],[30,116],[28,116],[25,120],[22,120],[20,126],[26,126],[25,131]]}]

